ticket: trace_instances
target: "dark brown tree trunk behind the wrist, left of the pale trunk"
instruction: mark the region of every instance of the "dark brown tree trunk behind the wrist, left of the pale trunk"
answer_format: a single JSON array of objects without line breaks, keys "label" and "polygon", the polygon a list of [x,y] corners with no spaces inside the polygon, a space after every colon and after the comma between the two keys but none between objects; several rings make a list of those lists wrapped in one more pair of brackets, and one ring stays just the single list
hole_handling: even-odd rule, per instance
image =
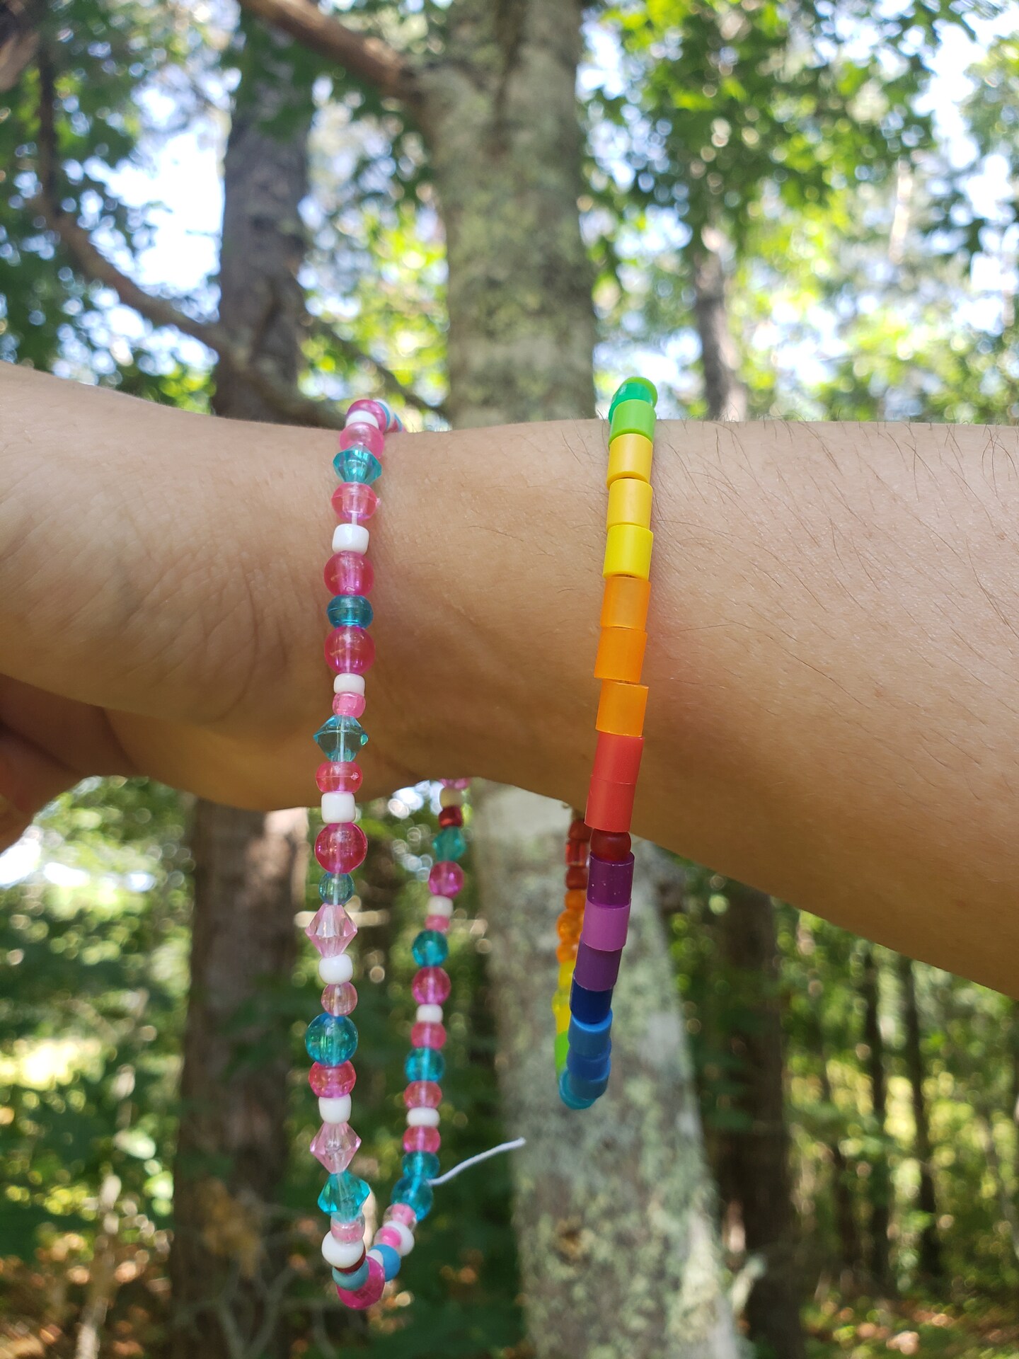
[{"label": "dark brown tree trunk behind the wrist, left of the pale trunk", "polygon": [[[299,359],[307,91],[289,42],[243,23],[246,52],[224,163],[220,322],[293,379]],[[266,122],[288,118],[285,135]],[[260,394],[217,372],[215,410],[273,420]],[[238,583],[238,588],[242,586]],[[194,814],[192,989],[183,1114],[174,1166],[170,1272],[174,1359],[285,1359],[280,1302],[285,1223],[273,1224],[287,1165],[288,1033],[274,995],[289,985],[303,905],[307,814],[262,815],[200,802]]]}]

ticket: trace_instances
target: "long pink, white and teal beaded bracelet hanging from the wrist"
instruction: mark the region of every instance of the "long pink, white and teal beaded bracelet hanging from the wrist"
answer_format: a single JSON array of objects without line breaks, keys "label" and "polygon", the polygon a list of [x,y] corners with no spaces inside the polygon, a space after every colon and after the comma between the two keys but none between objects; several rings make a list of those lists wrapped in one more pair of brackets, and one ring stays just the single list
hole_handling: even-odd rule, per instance
[{"label": "long pink, white and teal beaded bracelet hanging from the wrist", "polygon": [[412,1049],[404,1067],[408,1113],[402,1176],[393,1188],[374,1243],[365,1250],[361,1207],[370,1189],[349,1170],[360,1137],[348,1123],[356,1080],[351,1059],[357,1049],[357,1029],[351,1011],[357,1004],[357,992],[351,983],[353,964],[346,949],[357,931],[345,905],[355,890],[351,874],[364,862],[368,848],[364,832],[355,822],[355,794],[361,783],[356,760],[368,739],[359,722],[364,712],[364,674],[375,659],[375,644],[367,632],[372,621],[368,595],[374,572],[365,557],[365,522],[378,507],[372,484],[382,473],[385,435],[399,428],[399,420],[385,401],[355,401],[340,435],[340,451],[333,459],[340,477],[340,485],[333,492],[333,508],[340,522],[333,534],[333,556],[325,569],[332,595],[326,612],[333,625],[326,637],[325,655],[336,678],[333,715],[315,733],[315,742],[326,757],[317,776],[323,826],[315,839],[315,859],[325,872],[319,882],[322,906],[304,931],[318,949],[318,972],[325,983],[322,1014],[311,1021],[304,1036],[304,1046],[314,1063],[308,1082],[318,1095],[322,1118],[322,1127],[311,1140],[311,1152],[329,1171],[318,1197],[319,1208],[330,1215],[322,1254],[333,1267],[341,1302],[359,1310],[379,1301],[386,1282],[395,1276],[402,1257],[413,1249],[414,1227],[432,1207],[429,1181],[439,1173],[439,1082],[446,1068],[442,1006],[450,993],[450,977],[443,962],[448,954],[446,934],[452,898],[463,886],[463,870],[457,860],[466,849],[461,826],[467,780],[444,779],[440,829],[433,841],[437,862],[428,877],[431,896],[424,930],[412,946],[418,965],[412,983],[417,1015],[410,1030]]}]

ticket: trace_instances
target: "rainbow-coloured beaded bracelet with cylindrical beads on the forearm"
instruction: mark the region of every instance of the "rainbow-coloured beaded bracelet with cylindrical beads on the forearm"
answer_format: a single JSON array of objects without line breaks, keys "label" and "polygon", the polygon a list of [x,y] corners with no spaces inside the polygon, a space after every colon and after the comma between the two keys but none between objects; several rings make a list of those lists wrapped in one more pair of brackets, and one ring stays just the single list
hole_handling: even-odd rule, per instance
[{"label": "rainbow-coloured beaded bracelet with cylindrical beads on the forearm", "polygon": [[609,512],[605,595],[595,680],[602,681],[594,769],[583,818],[567,834],[567,896],[557,921],[558,1093],[587,1109],[609,1084],[613,987],[626,943],[633,890],[630,818],[644,750],[644,665],[651,567],[651,458],[658,391],[626,378],[609,406]]}]

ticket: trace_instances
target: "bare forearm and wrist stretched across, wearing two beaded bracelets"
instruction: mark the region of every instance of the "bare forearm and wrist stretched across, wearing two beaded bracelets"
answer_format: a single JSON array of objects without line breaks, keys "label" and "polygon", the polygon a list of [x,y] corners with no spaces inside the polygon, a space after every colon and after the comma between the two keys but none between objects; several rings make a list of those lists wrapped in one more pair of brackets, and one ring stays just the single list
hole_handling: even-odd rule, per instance
[{"label": "bare forearm and wrist stretched across, wearing two beaded bracelets", "polygon": [[[583,806],[607,427],[387,439],[376,795]],[[0,364],[0,847],[88,773],[306,803],[336,436]],[[634,832],[1019,995],[1019,431],[660,421]]]}]

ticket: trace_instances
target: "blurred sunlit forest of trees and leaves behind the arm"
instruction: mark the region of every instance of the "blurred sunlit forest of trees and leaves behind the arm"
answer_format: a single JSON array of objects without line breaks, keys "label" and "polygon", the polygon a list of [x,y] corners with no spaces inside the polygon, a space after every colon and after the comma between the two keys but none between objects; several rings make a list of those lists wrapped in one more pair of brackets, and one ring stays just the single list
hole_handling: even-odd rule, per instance
[{"label": "blurred sunlit forest of trees and leaves behind the arm", "polygon": [[[590,416],[629,370],[666,416],[1019,419],[1014,3],[5,0],[0,101],[5,361],[318,425]],[[443,1158],[538,1151],[440,1190],[367,1320],[307,1155],[314,815],[88,779],[0,856],[3,1359],[1019,1356],[1015,1004],[652,855],[571,1131],[534,803],[467,822]],[[363,809],[383,1181],[436,811]]]}]

